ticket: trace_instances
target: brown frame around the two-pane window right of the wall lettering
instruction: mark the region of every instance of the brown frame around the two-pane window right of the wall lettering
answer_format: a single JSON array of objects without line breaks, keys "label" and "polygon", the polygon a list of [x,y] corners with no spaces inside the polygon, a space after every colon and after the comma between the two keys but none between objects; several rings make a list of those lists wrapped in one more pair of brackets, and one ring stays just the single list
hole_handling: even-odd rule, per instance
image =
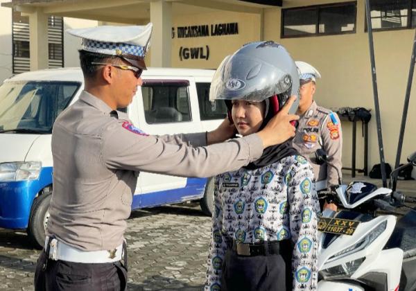
[{"label": "brown frame around the two-pane window right of the wall lettering", "polygon": [[[320,24],[320,8],[331,8],[331,7],[340,7],[340,6],[354,6],[354,29],[349,31],[344,31],[340,33],[319,33],[319,24]],[[315,19],[315,33],[304,34],[304,35],[284,35],[284,12],[288,10],[315,10],[316,19]],[[298,37],[320,37],[324,35],[345,35],[356,33],[357,29],[357,1],[345,1],[340,3],[328,3],[328,4],[318,4],[311,6],[299,6],[292,8],[281,9],[280,15],[280,38],[298,38]]]}]

